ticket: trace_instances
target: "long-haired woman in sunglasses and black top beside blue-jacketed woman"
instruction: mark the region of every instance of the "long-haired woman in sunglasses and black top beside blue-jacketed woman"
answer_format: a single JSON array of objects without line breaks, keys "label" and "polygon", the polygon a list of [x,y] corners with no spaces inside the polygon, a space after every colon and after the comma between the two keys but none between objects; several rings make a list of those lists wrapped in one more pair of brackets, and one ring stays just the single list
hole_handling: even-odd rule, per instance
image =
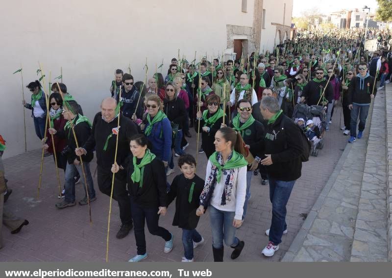
[{"label": "long-haired woman in sunglasses and black top beside blue-jacketed woman", "polygon": [[[166,84],[166,96],[165,99],[163,100],[163,105],[164,105],[163,109],[168,119],[173,124],[178,125],[178,131],[177,131],[177,135],[175,136],[175,142],[172,142],[172,145],[174,145],[175,156],[180,156],[181,154],[184,153],[184,151],[181,149],[181,141],[182,141],[182,134],[183,134],[182,127],[186,119],[187,112],[185,109],[184,101],[181,98],[177,97],[177,88],[176,85],[172,82],[168,82]],[[173,172],[174,172],[174,162],[173,162],[173,154],[171,152],[167,175],[169,176]]]}]

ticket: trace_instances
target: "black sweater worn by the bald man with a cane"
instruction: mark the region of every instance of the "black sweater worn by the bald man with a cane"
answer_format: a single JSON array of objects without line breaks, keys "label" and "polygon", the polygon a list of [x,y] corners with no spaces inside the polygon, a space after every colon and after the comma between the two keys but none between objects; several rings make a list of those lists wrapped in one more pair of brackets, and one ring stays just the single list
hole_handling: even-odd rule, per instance
[{"label": "black sweater worn by the bald man with a cane", "polygon": [[[118,118],[106,123],[102,119],[102,113],[98,112],[94,117],[91,135],[82,148],[87,152],[94,150],[97,152],[97,164],[105,170],[112,168],[114,155],[116,152],[116,135],[109,139],[106,151],[103,151],[107,137],[113,133],[113,128],[117,128]],[[119,146],[117,151],[117,164],[123,165],[125,158],[130,154],[129,139],[138,133],[136,125],[128,118],[120,116]]]}]

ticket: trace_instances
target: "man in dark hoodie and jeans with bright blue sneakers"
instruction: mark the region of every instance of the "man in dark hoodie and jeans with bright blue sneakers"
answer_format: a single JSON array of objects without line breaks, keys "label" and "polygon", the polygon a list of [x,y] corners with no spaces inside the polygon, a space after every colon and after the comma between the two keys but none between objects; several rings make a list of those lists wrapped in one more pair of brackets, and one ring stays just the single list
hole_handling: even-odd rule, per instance
[{"label": "man in dark hoodie and jeans with bright blue sneakers", "polygon": [[[350,82],[348,87],[348,108],[351,110],[351,121],[350,121],[350,139],[348,143],[353,143],[356,139],[362,137],[362,132],[365,129],[366,119],[368,118],[368,112],[370,102],[374,99],[377,93],[377,86],[373,86],[376,82],[373,76],[370,76],[367,72],[368,67],[366,62],[359,63],[358,66],[359,74]],[[374,88],[374,91],[373,91]],[[359,116],[358,134],[357,134],[357,119]]]}]

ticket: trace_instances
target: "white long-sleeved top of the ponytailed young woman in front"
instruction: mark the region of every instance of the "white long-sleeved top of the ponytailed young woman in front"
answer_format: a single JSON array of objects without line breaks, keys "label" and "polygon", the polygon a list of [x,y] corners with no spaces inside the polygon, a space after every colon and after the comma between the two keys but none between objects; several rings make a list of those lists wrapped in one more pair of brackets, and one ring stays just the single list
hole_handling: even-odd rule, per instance
[{"label": "white long-sleeved top of the ponytailed young woman in front", "polygon": [[[211,174],[211,167],[211,161],[208,160],[205,180],[207,180]],[[225,172],[226,174],[224,174]],[[246,195],[246,166],[234,170],[234,181],[230,202],[225,205],[221,205],[224,183],[228,173],[229,170],[222,170],[221,181],[215,185],[214,192],[211,196],[211,205],[219,210],[235,211],[236,214],[234,218],[242,220]]]}]

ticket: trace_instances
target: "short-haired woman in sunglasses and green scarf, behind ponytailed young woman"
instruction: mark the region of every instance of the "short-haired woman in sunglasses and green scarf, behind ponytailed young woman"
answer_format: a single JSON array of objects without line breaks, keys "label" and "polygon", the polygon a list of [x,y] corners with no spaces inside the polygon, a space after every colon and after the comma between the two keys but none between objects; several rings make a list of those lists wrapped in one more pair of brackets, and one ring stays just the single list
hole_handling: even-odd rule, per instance
[{"label": "short-haired woman in sunglasses and green scarf, behind ponytailed young woman", "polygon": [[[196,120],[200,120],[200,125],[196,121],[195,130],[196,132],[201,132],[201,149],[198,150],[199,153],[205,152],[207,158],[215,152],[215,133],[221,128],[223,123],[224,115],[223,110],[220,107],[221,98],[217,95],[209,96],[206,101],[207,110],[203,112],[199,111],[196,114]],[[227,123],[227,117],[225,118]],[[198,129],[200,126],[200,129]]]}]

